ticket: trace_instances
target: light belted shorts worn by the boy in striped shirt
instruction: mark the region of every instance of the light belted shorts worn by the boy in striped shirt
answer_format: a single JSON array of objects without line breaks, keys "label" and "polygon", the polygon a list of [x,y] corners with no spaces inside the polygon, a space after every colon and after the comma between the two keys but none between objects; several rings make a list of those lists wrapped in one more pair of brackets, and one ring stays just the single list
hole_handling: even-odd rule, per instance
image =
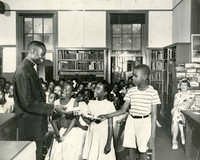
[{"label": "light belted shorts worn by the boy in striped shirt", "polygon": [[139,152],[146,152],[150,137],[151,116],[146,118],[132,118],[129,115],[125,125],[123,147],[137,148]]}]

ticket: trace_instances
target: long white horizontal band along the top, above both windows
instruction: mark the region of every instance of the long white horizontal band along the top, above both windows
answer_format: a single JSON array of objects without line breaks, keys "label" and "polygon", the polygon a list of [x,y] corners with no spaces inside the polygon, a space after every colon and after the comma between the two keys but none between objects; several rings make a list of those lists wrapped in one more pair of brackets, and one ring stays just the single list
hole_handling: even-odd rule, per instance
[{"label": "long white horizontal band along the top, above both windows", "polygon": [[[2,0],[13,10],[171,9],[172,0]],[[40,4],[40,5],[35,5]]]}]

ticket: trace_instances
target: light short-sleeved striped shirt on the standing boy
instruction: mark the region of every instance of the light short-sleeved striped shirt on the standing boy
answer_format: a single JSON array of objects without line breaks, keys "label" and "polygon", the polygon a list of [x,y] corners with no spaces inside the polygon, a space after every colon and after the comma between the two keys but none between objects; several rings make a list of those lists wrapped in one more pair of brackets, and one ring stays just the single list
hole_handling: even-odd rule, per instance
[{"label": "light short-sleeved striped shirt on the standing boy", "polygon": [[137,87],[130,88],[124,100],[130,101],[129,113],[133,116],[148,115],[152,105],[160,104],[157,90],[150,85],[144,91],[138,90]]}]

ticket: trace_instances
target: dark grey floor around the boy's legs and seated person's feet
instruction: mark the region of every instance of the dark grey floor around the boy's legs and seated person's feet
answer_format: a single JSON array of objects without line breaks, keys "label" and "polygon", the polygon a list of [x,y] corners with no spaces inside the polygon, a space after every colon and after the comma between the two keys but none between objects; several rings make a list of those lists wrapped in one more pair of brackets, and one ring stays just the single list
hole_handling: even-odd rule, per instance
[{"label": "dark grey floor around the boy's legs and seated person's feet", "polygon": [[[180,146],[176,151],[171,149],[171,137],[168,128],[157,128],[155,157],[156,160],[186,160],[183,146]],[[129,160],[127,151],[121,152],[118,155],[118,160]]]}]

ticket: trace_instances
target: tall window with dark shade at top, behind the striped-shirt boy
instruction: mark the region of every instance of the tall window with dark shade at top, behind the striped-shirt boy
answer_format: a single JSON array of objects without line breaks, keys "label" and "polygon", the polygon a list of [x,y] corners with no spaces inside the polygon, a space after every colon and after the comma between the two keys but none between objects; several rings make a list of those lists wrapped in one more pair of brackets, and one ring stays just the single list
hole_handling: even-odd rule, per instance
[{"label": "tall window with dark shade at top, behind the striped-shirt boy", "polygon": [[144,13],[110,14],[111,81],[128,79],[135,65],[142,63]]}]

